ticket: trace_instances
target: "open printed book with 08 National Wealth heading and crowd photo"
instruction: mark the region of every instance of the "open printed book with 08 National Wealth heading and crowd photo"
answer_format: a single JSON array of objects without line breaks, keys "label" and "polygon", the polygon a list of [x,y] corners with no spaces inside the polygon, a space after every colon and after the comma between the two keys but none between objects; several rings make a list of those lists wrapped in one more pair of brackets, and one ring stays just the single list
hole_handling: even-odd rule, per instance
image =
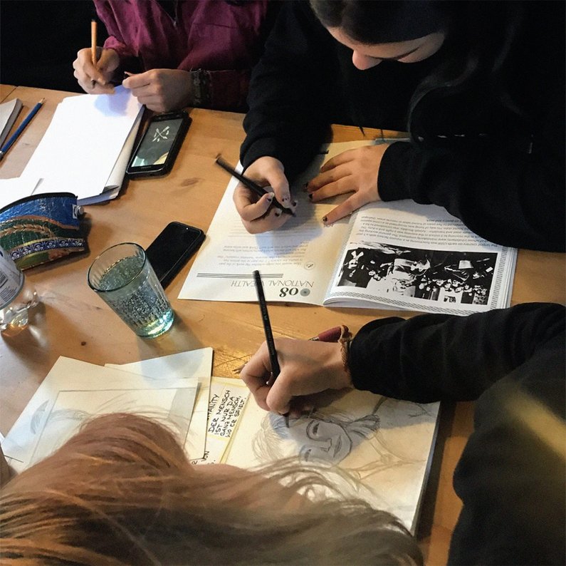
[{"label": "open printed book with 08 National Wealth heading and crowd photo", "polygon": [[[298,179],[316,175],[344,150],[334,143]],[[435,205],[375,202],[324,227],[337,200],[314,204],[295,190],[297,216],[251,235],[232,201],[232,178],[179,299],[256,301],[254,269],[266,300],[328,307],[470,314],[508,307],[517,250],[483,240]]]}]

